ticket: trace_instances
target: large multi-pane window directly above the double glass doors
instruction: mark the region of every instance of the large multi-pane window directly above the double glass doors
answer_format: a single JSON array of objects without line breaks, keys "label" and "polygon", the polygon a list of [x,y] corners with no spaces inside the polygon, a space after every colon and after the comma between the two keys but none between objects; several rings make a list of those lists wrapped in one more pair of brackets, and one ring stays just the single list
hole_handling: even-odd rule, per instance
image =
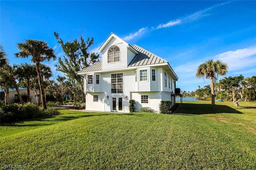
[{"label": "large multi-pane window directly above the double glass doors", "polygon": [[123,93],[123,73],[111,74],[111,93]]}]

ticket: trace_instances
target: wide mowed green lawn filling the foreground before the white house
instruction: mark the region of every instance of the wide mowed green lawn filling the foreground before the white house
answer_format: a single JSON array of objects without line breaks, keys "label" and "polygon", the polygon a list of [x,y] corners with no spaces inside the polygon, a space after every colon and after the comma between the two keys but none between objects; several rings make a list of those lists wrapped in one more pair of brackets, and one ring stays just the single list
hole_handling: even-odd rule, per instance
[{"label": "wide mowed green lawn filling the foreground before the white house", "polygon": [[0,164],[28,169],[256,169],[256,103],[177,113],[62,114],[3,124]]}]

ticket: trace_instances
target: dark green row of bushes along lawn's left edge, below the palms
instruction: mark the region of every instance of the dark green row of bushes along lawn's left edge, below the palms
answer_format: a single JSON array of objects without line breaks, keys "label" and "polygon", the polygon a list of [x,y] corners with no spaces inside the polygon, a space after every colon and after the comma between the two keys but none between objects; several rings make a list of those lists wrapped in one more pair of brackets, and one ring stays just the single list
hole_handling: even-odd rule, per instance
[{"label": "dark green row of bushes along lawn's left edge, below the palms", "polygon": [[37,104],[4,104],[0,108],[0,122],[8,123],[34,117],[56,115],[58,111],[48,108],[40,109]]}]

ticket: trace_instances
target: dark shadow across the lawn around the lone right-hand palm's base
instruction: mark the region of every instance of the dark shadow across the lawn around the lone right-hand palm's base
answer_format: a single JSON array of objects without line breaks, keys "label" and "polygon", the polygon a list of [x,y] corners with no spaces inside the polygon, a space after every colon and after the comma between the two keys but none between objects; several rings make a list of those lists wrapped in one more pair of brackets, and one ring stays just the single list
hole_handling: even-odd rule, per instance
[{"label": "dark shadow across the lawn around the lone right-hand palm's base", "polygon": [[211,104],[187,104],[183,103],[181,107],[174,113],[180,115],[203,115],[214,113],[237,113],[243,114],[237,109],[226,105],[215,105],[215,109],[211,109]]}]

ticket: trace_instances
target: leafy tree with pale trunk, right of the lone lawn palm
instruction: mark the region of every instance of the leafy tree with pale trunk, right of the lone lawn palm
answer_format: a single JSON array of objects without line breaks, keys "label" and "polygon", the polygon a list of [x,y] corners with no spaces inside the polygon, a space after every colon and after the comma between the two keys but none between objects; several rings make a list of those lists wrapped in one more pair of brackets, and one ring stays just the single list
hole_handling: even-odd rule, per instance
[{"label": "leafy tree with pale trunk, right of the lone lawn palm", "polygon": [[237,99],[237,90],[241,86],[240,83],[244,79],[244,76],[242,74],[240,76],[234,76],[231,77],[229,76],[224,77],[223,79],[220,80],[221,88],[224,90],[232,90],[232,96],[233,96],[233,103],[234,106],[239,106],[238,102],[239,100]]}]

